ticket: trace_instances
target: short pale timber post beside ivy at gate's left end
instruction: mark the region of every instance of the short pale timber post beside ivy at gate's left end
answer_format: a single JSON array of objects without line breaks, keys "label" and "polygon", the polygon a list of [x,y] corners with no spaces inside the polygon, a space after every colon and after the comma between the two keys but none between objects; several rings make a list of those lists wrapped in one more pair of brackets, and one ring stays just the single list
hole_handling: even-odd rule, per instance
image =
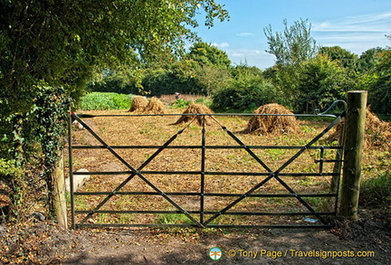
[{"label": "short pale timber post beside ivy at gate's left end", "polygon": [[61,152],[60,160],[53,172],[54,186],[54,211],[58,224],[63,228],[68,228],[66,215],[66,195],[65,195],[65,180],[63,174],[63,152]]}]

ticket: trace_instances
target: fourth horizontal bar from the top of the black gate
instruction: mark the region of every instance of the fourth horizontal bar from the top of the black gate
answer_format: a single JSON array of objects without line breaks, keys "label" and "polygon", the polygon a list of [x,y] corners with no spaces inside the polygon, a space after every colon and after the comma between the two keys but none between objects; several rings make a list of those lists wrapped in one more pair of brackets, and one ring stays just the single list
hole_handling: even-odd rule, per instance
[{"label": "fourth horizontal bar from the top of the black gate", "polygon": [[[89,195],[109,195],[112,192],[85,192],[85,193],[74,193],[79,196]],[[209,197],[238,197],[243,194],[201,194],[201,193],[166,193],[170,196],[209,196]],[[159,195],[155,192],[117,192],[116,195]],[[285,198],[285,197],[337,197],[338,194],[248,194],[247,197],[254,198]]]}]

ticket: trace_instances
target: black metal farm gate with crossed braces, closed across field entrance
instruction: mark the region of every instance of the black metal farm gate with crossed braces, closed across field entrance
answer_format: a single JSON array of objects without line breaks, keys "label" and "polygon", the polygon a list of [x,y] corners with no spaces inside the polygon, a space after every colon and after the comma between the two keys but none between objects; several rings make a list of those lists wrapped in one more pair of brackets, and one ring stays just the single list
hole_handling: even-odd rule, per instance
[{"label": "black metal farm gate with crossed braces, closed across field entrance", "polygon": [[[188,114],[192,120],[181,126],[169,125],[167,128],[175,132],[164,138],[161,132],[165,128],[155,128],[157,132],[151,133],[152,122],[167,118],[168,123],[168,119],[172,121],[183,114],[72,113],[72,227],[331,227],[337,212],[343,147],[338,141],[327,144],[322,138],[345,112],[329,114],[329,109],[318,115],[294,115],[321,118],[323,124],[327,120],[315,134],[311,128],[305,128],[309,135],[314,135],[310,140],[297,138],[300,146],[257,144],[262,136],[247,140],[242,132],[235,132],[237,128],[224,125],[229,118],[243,125],[258,114]],[[109,117],[120,119],[127,126],[136,119],[149,118],[150,123],[143,122],[148,128],[119,131],[138,137],[151,133],[150,138],[157,138],[159,143],[139,144],[136,137],[132,143],[120,145],[115,139],[123,136],[102,137],[111,125],[98,128],[94,120]],[[196,118],[204,120],[198,127]],[[207,125],[206,119],[213,125]],[[75,131],[71,125],[74,121],[84,129]],[[188,138],[178,141],[183,136]],[[223,137],[226,142],[218,142]],[[288,138],[282,135],[278,139],[283,142]],[[198,144],[189,139],[198,140]],[[94,158],[95,152],[102,152],[102,159],[107,161]],[[196,158],[188,158],[190,155]],[[143,161],[136,161],[136,157],[143,157]],[[179,162],[175,162],[177,159]],[[76,170],[89,168],[89,163],[89,173]],[[73,179],[86,174],[91,179],[81,190],[73,190]],[[189,190],[184,190],[187,187]]]}]

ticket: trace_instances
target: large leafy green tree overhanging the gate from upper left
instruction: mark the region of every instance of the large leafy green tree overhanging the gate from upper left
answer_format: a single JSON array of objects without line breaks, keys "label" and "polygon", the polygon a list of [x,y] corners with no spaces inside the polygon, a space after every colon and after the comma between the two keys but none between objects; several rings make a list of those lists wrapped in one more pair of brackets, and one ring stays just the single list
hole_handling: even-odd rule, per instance
[{"label": "large leafy green tree overhanging the gate from upper left", "polygon": [[[51,110],[64,113],[68,103],[60,108],[49,100],[42,111],[34,111],[43,94],[58,102],[79,95],[94,73],[132,65],[135,54],[141,62],[177,57],[186,40],[196,39],[191,28],[198,25],[199,10],[205,10],[207,26],[227,18],[214,0],[1,1],[0,132],[8,147],[2,148],[0,157],[14,158],[22,167],[28,162],[24,154],[37,142],[58,147],[62,130],[57,126],[63,125],[47,116]],[[63,88],[61,97],[50,87]],[[53,126],[58,141],[52,135],[33,137],[43,121],[44,126]],[[50,141],[55,143],[51,146]],[[50,158],[43,166],[54,166],[56,157]],[[49,173],[44,180],[50,186]]]}]

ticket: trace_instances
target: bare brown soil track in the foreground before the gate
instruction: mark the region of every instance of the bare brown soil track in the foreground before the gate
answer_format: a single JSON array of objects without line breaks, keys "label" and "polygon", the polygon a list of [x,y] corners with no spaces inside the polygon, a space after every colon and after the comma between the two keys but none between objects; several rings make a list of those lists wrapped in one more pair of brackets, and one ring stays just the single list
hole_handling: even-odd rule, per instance
[{"label": "bare brown soil track in the foreground before the gate", "polygon": [[[30,221],[0,226],[0,264],[390,264],[389,220],[366,216],[332,230],[62,230]],[[220,260],[208,256],[214,247]]]}]

